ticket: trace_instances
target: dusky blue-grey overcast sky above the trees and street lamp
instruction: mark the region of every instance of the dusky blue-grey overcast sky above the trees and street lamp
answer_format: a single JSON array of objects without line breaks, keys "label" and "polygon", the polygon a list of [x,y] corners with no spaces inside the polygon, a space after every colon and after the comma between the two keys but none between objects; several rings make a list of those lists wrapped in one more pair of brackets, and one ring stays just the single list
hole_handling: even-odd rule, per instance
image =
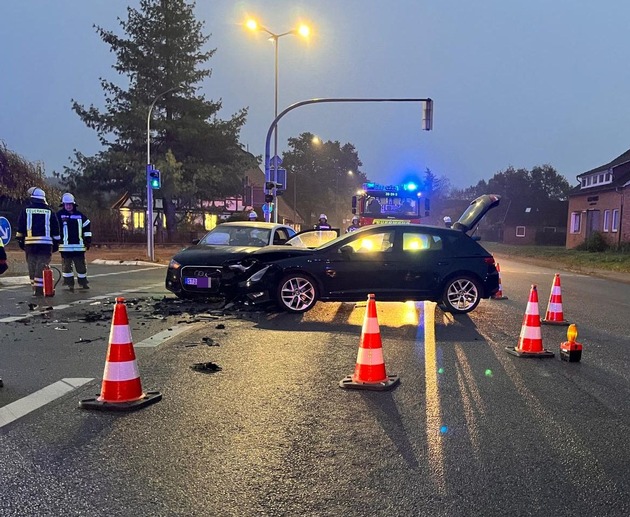
[{"label": "dusky blue-grey overcast sky above the trees and street lamp", "polygon": [[[71,99],[103,106],[99,77],[114,55],[93,28],[120,32],[134,0],[2,0],[0,140],[51,174],[74,149],[93,155],[96,134]],[[217,52],[204,83],[222,118],[249,108],[241,141],[264,153],[274,113],[273,45],[243,27],[256,15],[272,32],[307,21],[309,42],[280,39],[280,111],[321,97],[434,100],[434,130],[420,105],[323,104],[280,124],[286,140],[309,131],[355,145],[363,172],[395,183],[427,167],[453,186],[510,165],[550,164],[575,176],[630,148],[630,1],[198,0]]]}]

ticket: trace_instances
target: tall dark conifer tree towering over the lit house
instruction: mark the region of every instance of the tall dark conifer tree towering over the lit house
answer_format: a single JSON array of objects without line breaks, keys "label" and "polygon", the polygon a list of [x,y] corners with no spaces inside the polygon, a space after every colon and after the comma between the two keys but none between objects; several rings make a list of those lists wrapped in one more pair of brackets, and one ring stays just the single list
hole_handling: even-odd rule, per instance
[{"label": "tall dark conifer tree towering over the lit house", "polygon": [[127,20],[120,21],[127,37],[96,26],[116,55],[113,68],[127,77],[128,88],[101,78],[104,111],[72,101],[104,149],[93,157],[75,151],[72,166],[61,175],[79,195],[96,195],[103,204],[125,191],[144,193],[146,125],[155,103],[151,161],[163,174],[160,193],[169,239],[176,231],[177,206],[240,194],[243,171],[257,166],[238,140],[247,109],[220,120],[221,102],[198,93],[198,84],[212,73],[200,65],[216,49],[202,51],[209,36],[202,34],[194,7],[185,0],[140,0],[139,9],[128,7]]}]

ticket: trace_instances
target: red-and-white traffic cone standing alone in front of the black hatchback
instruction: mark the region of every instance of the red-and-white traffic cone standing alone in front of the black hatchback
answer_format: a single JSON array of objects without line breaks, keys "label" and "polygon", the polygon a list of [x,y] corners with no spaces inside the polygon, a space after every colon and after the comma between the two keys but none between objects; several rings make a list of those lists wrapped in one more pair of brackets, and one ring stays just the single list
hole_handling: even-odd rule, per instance
[{"label": "red-and-white traffic cone standing alone in front of the black hatchback", "polygon": [[376,315],[376,300],[373,294],[369,294],[354,374],[339,381],[339,386],[384,391],[393,388],[399,381],[397,375],[387,375],[385,372],[381,331]]}]

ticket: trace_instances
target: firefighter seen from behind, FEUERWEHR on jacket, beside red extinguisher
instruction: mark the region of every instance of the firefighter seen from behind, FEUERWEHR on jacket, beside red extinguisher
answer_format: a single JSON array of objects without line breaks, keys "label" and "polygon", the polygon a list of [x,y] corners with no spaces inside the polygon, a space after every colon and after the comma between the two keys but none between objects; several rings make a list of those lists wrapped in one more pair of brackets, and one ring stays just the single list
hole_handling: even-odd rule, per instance
[{"label": "firefighter seen from behind, FEUERWEHR on jacket, beside red extinguisher", "polygon": [[59,221],[46,203],[46,193],[40,188],[31,192],[30,203],[18,217],[15,238],[26,253],[28,276],[34,296],[44,294],[44,268],[59,249]]}]

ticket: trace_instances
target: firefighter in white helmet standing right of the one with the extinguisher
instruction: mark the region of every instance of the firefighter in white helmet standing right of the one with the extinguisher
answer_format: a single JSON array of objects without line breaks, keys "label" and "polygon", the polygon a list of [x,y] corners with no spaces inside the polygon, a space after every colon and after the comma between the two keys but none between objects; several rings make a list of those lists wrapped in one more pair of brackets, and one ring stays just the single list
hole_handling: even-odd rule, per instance
[{"label": "firefighter in white helmet standing right of the one with the extinguisher", "polygon": [[74,267],[78,284],[83,289],[89,289],[85,252],[90,249],[92,243],[90,220],[77,210],[74,196],[69,192],[62,196],[60,206],[62,208],[57,212],[57,218],[61,226],[59,252],[61,253],[63,285],[68,290],[74,291]]}]

